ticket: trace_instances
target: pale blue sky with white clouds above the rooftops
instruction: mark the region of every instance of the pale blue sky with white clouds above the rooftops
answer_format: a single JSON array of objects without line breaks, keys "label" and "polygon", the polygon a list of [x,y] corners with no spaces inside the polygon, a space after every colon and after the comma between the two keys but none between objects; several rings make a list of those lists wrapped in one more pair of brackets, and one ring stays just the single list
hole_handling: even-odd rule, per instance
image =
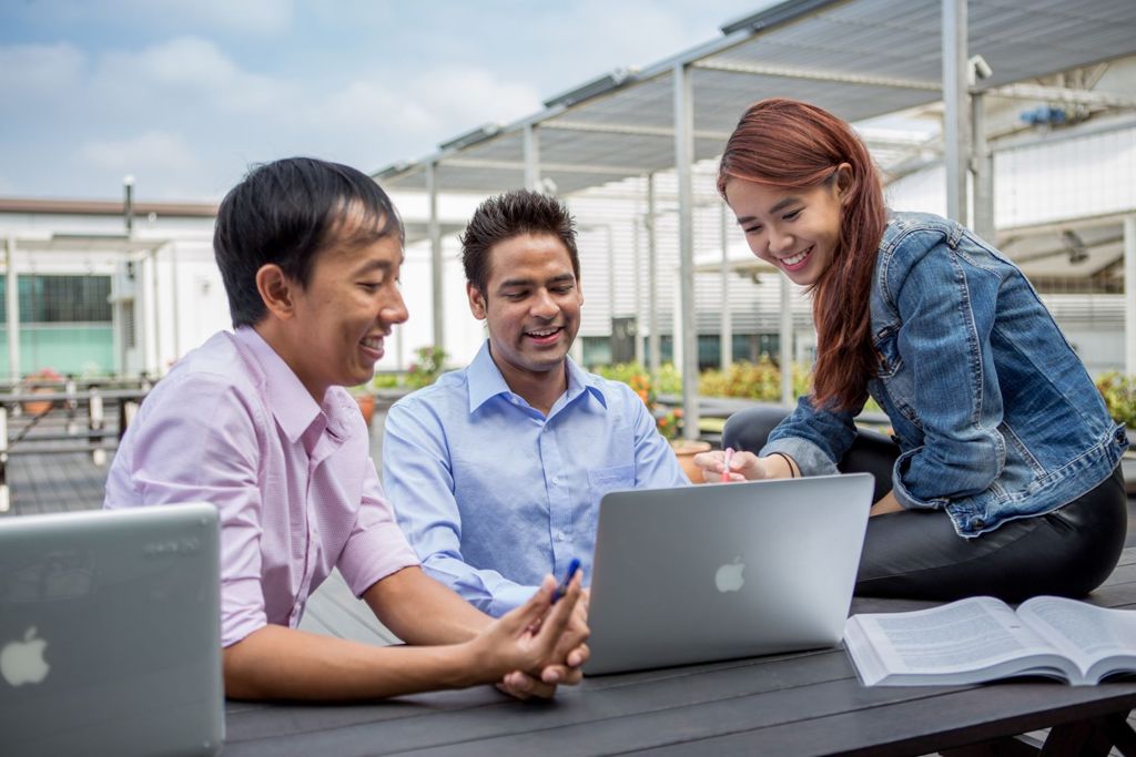
[{"label": "pale blue sky with white clouds above the rooftops", "polygon": [[0,0],[0,196],[216,201],[294,154],[367,173],[769,0]]}]

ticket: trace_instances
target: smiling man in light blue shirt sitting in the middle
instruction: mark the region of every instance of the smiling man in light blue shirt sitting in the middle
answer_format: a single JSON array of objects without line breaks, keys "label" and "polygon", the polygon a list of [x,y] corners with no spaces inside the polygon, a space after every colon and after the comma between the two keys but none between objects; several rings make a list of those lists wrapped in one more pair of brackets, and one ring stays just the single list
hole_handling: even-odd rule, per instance
[{"label": "smiling man in light blue shirt sitting in the middle", "polygon": [[690,481],[638,395],[568,358],[584,297],[567,209],[491,197],[461,243],[488,340],[391,407],[383,483],[427,573],[501,615],[573,557],[590,583],[604,494]]}]

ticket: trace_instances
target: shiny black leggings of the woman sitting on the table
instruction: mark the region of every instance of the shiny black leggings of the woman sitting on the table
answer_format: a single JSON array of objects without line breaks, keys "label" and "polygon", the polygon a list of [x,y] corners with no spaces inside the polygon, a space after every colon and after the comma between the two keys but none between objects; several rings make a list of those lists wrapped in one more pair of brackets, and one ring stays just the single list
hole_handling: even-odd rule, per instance
[{"label": "shiny black leggings of the woman sitting on the table", "polygon": [[[758,453],[785,418],[754,407],[726,422],[722,445]],[[860,429],[837,468],[876,478],[878,501],[892,488],[900,454],[888,437]],[[868,521],[855,592],[868,597],[951,600],[991,595],[1006,602],[1051,594],[1083,597],[1109,577],[1125,546],[1128,501],[1120,466],[1096,488],[1045,515],[1009,521],[974,539],[939,510],[907,510]]]}]

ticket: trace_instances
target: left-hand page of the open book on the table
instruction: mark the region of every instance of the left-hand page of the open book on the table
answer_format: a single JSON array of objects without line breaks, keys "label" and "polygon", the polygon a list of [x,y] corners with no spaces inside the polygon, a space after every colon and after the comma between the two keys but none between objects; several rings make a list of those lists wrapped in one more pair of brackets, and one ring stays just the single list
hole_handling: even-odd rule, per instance
[{"label": "left-hand page of the open book on the table", "polygon": [[1008,605],[992,597],[855,617],[879,661],[894,673],[968,671],[1053,651]]}]

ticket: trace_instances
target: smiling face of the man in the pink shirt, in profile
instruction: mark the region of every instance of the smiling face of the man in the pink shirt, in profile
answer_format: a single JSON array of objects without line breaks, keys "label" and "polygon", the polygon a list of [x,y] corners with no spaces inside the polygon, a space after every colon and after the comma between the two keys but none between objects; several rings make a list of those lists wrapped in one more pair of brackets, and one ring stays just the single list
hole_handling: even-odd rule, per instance
[{"label": "smiling face of the man in the pink shirt, in profile", "polygon": [[[407,320],[398,283],[401,263],[402,244],[392,235],[327,246],[306,287],[279,275],[277,294],[286,296],[268,306],[283,318],[273,323],[275,338],[267,340],[316,402],[323,402],[328,387],[356,386],[375,375],[384,339]],[[272,291],[273,283],[266,286]]]}]

